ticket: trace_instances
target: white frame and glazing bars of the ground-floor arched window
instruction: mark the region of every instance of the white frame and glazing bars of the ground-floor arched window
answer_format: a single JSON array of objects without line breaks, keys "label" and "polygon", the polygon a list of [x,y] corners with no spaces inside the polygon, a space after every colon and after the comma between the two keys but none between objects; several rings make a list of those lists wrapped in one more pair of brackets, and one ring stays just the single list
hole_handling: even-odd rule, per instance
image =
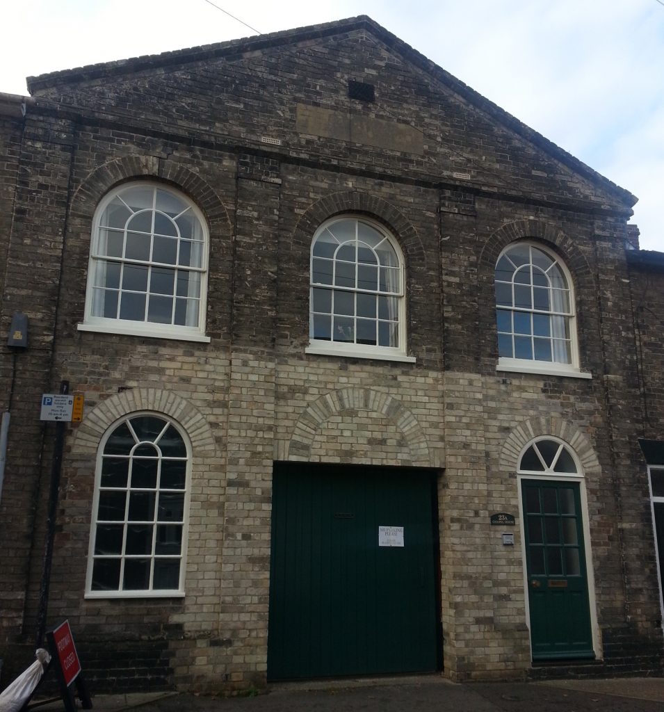
[{"label": "white frame and glazing bars of the ground-floor arched window", "polygon": [[[164,421],[164,430],[167,429],[169,426],[173,426],[174,429],[179,433],[181,436],[182,440],[184,441],[184,446],[186,447],[186,472],[185,472],[185,482],[184,482],[184,510],[182,513],[182,538],[181,538],[181,548],[180,548],[180,553],[179,553],[179,562],[180,562],[180,567],[179,567],[179,582],[178,582],[178,587],[176,589],[130,589],[130,590],[122,590],[121,588],[118,588],[117,590],[93,590],[93,568],[95,565],[95,560],[100,557],[107,557],[109,559],[117,559],[120,558],[120,583],[119,585],[122,586],[122,571],[124,568],[124,562],[127,560],[127,558],[131,557],[132,555],[127,555],[125,553],[125,543],[126,543],[126,538],[127,538],[127,523],[128,523],[128,507],[129,507],[129,502],[130,502],[130,493],[132,491],[154,491],[155,492],[155,501],[154,501],[154,512],[153,512],[153,517],[152,517],[152,527],[153,527],[153,533],[152,533],[152,538],[153,538],[153,544],[152,544],[152,553],[149,555],[141,554],[141,555],[135,555],[136,558],[142,558],[146,559],[149,558],[154,562],[156,555],[154,553],[154,539],[156,537],[157,533],[157,516],[158,516],[158,496],[159,493],[162,491],[174,491],[174,492],[179,492],[181,491],[180,489],[169,489],[169,488],[132,488],[130,487],[130,481],[127,481],[127,487],[125,488],[105,488],[105,491],[108,490],[117,490],[117,491],[127,491],[127,500],[125,503],[125,518],[124,520],[112,520],[109,521],[108,523],[114,524],[114,525],[123,525],[123,534],[122,534],[122,551],[119,555],[117,554],[112,554],[112,555],[95,555],[95,543],[96,543],[96,537],[97,537],[97,525],[100,523],[99,520],[99,500],[100,500],[100,492],[101,492],[101,477],[102,477],[102,460],[104,456],[104,449],[107,444],[108,439],[110,436],[116,431],[116,429],[122,424],[127,423],[128,421],[135,419],[137,417],[154,417],[158,418],[160,420]],[[144,441],[144,442],[149,442],[149,441]],[[116,456],[113,455],[113,457],[123,457],[123,456]],[[179,458],[178,458],[179,459]],[[159,458],[159,468],[161,464],[161,458]],[[159,412],[151,412],[151,411],[140,411],[140,412],[133,412],[130,414],[127,414],[123,416],[120,419],[117,419],[105,432],[105,434],[102,436],[102,439],[100,441],[99,449],[97,452],[97,464],[95,467],[95,492],[93,496],[93,508],[92,508],[92,516],[90,520],[90,546],[88,548],[88,572],[86,575],[85,579],[85,598],[86,599],[98,599],[98,598],[176,598],[176,597],[184,597],[185,591],[184,591],[184,582],[185,582],[185,575],[186,575],[186,553],[187,553],[187,540],[188,540],[188,530],[189,530],[189,501],[191,497],[191,443],[189,441],[189,438],[186,436],[186,433],[181,429],[179,424],[177,424],[172,418],[169,418],[167,415]],[[102,523],[105,522],[105,520],[101,520]],[[143,523],[143,522],[141,522]],[[150,524],[150,522],[146,522]],[[177,523],[179,524],[179,522]],[[169,558],[175,558],[174,555],[165,555],[164,557],[169,557]],[[151,571],[152,571],[152,565],[151,565]],[[152,582],[152,575],[150,577],[150,580]]]}]

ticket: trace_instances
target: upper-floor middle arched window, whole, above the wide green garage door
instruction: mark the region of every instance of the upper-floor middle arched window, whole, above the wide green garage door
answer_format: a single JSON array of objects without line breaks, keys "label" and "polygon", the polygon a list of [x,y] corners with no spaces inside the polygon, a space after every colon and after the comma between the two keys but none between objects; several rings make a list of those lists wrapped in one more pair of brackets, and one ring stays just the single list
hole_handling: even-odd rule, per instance
[{"label": "upper-floor middle arched window, whole, above the wide green garage door", "polygon": [[307,352],[412,360],[406,354],[404,260],[383,226],[341,216],[311,248]]}]

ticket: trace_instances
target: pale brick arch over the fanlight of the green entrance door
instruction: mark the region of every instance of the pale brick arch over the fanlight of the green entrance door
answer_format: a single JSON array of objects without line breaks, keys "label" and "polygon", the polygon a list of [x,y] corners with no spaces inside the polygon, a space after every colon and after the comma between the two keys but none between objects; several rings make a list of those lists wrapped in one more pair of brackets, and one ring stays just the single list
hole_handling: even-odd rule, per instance
[{"label": "pale brick arch over the fanlight of the green entrance door", "polygon": [[518,424],[507,436],[500,451],[500,468],[516,472],[519,456],[525,446],[535,438],[555,436],[566,442],[581,461],[584,474],[599,474],[601,471],[596,452],[579,428],[558,417],[531,418]]}]

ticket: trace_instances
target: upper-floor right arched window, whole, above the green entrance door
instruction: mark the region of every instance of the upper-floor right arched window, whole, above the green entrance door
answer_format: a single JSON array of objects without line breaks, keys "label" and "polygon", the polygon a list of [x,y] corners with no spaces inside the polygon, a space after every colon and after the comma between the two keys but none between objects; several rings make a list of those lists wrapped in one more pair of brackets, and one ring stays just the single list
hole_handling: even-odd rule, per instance
[{"label": "upper-floor right arched window, whole, above the green entrance door", "polygon": [[579,372],[574,292],[562,261],[541,246],[507,247],[495,268],[499,370]]}]

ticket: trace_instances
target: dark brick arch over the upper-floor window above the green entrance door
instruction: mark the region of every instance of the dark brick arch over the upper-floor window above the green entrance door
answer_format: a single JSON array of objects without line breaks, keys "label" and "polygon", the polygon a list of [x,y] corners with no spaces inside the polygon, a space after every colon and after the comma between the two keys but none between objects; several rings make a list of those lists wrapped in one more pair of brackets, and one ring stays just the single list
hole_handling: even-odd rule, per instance
[{"label": "dark brick arch over the upper-floor window above the green entrance door", "polygon": [[[488,239],[480,254],[480,271],[493,283],[496,262],[507,245],[517,240],[542,241],[553,247],[571,272],[576,288],[594,290],[593,271],[574,243],[562,230],[541,220],[515,220],[497,229]],[[591,293],[591,291],[589,293]]]}]

